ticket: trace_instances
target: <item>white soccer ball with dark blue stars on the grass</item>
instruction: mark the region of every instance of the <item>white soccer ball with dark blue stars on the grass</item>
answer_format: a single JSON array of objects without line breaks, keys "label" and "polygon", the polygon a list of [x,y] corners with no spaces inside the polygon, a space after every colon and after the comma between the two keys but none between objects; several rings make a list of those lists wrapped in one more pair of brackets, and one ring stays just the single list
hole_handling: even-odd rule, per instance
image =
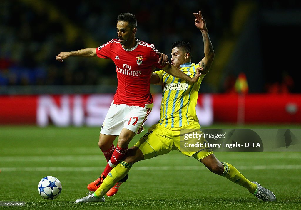
[{"label": "white soccer ball with dark blue stars on the grass", "polygon": [[57,178],[47,176],[42,178],[39,182],[38,190],[42,198],[46,200],[53,200],[61,194],[62,184]]}]

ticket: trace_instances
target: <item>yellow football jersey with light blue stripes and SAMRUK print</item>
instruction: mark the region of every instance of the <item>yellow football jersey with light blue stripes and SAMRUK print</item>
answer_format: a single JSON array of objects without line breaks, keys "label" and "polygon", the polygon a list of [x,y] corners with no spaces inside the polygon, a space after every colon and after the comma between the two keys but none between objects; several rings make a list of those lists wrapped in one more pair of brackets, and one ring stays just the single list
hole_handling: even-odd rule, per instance
[{"label": "yellow football jersey with light blue stripes and SAMRUK print", "polygon": [[[199,65],[200,63],[185,63],[180,66],[180,69],[188,76],[194,77]],[[198,82],[189,83],[163,70],[154,73],[163,82],[159,124],[168,128],[178,128],[188,125],[190,121],[199,122],[195,107],[198,91],[205,75],[201,75]]]}]

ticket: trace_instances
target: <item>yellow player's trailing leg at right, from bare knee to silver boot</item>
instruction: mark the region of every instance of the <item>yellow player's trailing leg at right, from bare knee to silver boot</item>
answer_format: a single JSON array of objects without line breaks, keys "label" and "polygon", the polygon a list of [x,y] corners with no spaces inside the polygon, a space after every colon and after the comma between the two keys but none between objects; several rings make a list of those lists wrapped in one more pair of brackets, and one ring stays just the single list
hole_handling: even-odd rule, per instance
[{"label": "yellow player's trailing leg at right, from bare knee to silver boot", "polygon": [[[197,154],[194,155],[194,158],[198,159]],[[257,182],[250,182],[244,177],[244,175],[240,174],[233,165],[226,162],[220,162],[214,154],[200,159],[200,162],[202,162],[213,173],[224,176],[228,180],[247,188],[249,192],[258,199],[263,201],[277,200],[274,193],[270,190],[260,186]]]}]

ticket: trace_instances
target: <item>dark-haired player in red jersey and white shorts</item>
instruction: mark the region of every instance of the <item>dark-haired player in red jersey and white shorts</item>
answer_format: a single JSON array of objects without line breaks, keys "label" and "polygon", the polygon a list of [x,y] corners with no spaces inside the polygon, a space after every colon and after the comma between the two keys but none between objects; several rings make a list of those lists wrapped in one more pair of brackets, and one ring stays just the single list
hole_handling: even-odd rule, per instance
[{"label": "dark-haired player in red jersey and white shorts", "polygon": [[[107,159],[107,166],[101,176],[88,185],[96,191],[103,179],[123,158],[129,142],[143,131],[144,121],[151,113],[153,98],[150,93],[150,78],[155,68],[183,79],[197,82],[200,73],[189,77],[180,69],[169,65],[167,56],[160,54],[154,45],[136,39],[137,20],[133,14],[122,13],[117,18],[118,39],[112,39],[99,48],[86,48],[72,52],[61,52],[56,60],[63,62],[70,56],[110,58],[116,65],[117,91],[101,127],[98,146]],[[113,141],[118,137],[117,146]],[[123,182],[127,179],[127,176]]]}]

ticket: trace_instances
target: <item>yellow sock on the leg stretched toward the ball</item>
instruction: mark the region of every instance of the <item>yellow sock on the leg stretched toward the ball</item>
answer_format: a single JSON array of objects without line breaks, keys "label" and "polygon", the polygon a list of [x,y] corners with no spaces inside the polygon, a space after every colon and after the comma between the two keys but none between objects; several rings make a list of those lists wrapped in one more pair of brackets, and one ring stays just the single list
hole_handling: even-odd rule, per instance
[{"label": "yellow sock on the leg stretched toward the ball", "polygon": [[104,179],[103,183],[100,185],[98,190],[94,193],[96,197],[102,197],[107,193],[120,179],[129,173],[132,165],[127,162],[121,161],[116,165],[107,177]]}]

